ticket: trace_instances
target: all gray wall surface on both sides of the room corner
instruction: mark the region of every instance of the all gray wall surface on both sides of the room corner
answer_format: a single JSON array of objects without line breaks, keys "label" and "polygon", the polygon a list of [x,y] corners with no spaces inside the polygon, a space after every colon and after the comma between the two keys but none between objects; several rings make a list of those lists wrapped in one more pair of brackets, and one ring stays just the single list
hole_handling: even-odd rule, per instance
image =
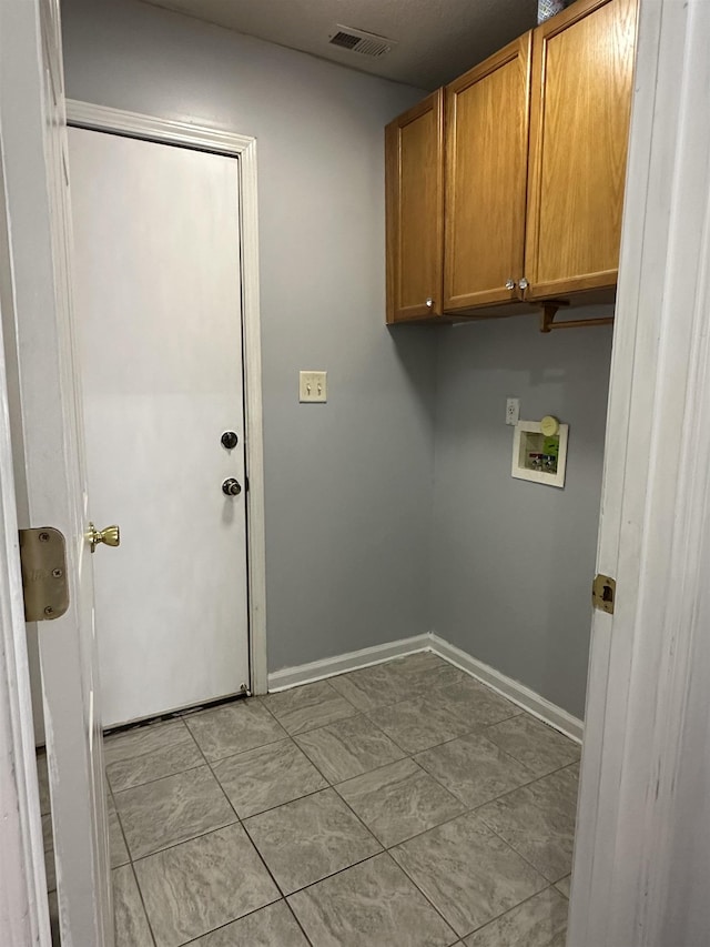
[{"label": "all gray wall surface on both sides of the room corner", "polygon": [[[385,328],[383,127],[417,90],[135,0],[63,19],[71,98],[258,139],[270,669],[434,629],[581,715],[610,331]],[[511,480],[508,395],[570,423],[564,491]]]}]

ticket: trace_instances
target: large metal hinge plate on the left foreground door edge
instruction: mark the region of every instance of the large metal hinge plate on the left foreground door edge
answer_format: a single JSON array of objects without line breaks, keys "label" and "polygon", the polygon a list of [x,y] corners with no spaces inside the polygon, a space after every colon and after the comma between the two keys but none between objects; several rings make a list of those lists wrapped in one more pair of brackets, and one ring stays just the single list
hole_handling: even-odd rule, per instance
[{"label": "large metal hinge plate on the left foreground door edge", "polygon": [[67,547],[53,526],[20,530],[24,621],[51,622],[69,608]]}]

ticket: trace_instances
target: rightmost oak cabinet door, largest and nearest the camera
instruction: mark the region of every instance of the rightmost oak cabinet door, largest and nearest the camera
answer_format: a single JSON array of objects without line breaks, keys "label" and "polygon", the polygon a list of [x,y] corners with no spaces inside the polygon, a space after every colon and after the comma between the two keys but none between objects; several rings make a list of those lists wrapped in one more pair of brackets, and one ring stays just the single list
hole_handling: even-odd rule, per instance
[{"label": "rightmost oak cabinet door, largest and nearest the camera", "polygon": [[635,43],[636,0],[578,0],[535,31],[528,299],[616,284]]}]

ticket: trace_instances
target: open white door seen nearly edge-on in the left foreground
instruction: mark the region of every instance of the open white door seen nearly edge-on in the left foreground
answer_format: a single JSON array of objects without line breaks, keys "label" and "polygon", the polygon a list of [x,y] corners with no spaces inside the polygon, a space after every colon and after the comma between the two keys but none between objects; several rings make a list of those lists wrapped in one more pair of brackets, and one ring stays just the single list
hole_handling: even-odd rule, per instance
[{"label": "open white door seen nearly edge-on in the left foreground", "polygon": [[58,2],[3,0],[0,127],[12,285],[4,285],[2,328],[18,522],[64,534],[70,591],[67,613],[39,624],[59,923],[62,947],[103,947],[113,926],[63,117]]}]

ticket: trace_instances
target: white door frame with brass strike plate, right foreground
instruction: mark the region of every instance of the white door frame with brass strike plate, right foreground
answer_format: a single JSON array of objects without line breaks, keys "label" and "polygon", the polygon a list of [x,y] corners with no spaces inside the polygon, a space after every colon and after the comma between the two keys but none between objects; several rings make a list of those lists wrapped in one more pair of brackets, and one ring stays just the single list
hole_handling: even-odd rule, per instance
[{"label": "white door frame with brass strike plate, right foreground", "polygon": [[570,947],[710,930],[709,46],[708,0],[641,0]]}]

